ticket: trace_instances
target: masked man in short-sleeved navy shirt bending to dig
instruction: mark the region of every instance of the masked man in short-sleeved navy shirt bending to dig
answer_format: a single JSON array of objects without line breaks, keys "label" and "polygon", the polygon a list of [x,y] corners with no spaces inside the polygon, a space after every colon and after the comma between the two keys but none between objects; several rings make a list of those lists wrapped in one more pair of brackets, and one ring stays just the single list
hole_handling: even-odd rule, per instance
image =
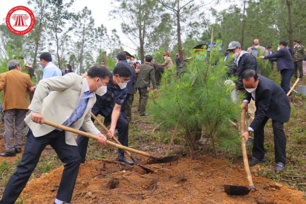
[{"label": "masked man in short-sleeved navy shirt bending to dig", "polygon": [[[123,101],[126,97],[126,85],[131,79],[131,70],[126,67],[126,63],[119,62],[115,66],[109,83],[107,84],[107,92],[103,96],[96,96],[97,101],[92,108],[92,113],[104,117],[106,125],[111,123],[109,129],[110,138],[114,137],[115,129],[118,130],[118,140],[128,146],[129,141],[129,123],[125,120],[123,113],[120,111]],[[88,138],[78,135],[77,143],[81,155],[81,163],[85,163]],[[117,161],[133,165],[134,163],[124,157],[124,151],[118,149]]]}]

